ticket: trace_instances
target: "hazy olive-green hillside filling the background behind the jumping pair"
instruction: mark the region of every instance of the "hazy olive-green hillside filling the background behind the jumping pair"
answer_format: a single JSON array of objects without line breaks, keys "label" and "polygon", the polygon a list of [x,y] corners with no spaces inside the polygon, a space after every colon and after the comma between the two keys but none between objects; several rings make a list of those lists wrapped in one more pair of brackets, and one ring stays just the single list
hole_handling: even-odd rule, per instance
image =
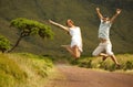
[{"label": "hazy olive-green hillside filling the background behind the jumping pair", "polygon": [[[49,24],[52,19],[65,24],[72,19],[82,30],[84,52],[90,55],[98,46],[99,19],[95,8],[102,13],[113,15],[116,8],[122,9],[111,30],[111,41],[115,53],[133,53],[133,0],[0,0],[0,34],[6,35],[12,43],[17,41],[17,29],[9,28],[16,18],[28,18]],[[51,24],[49,24],[51,25]],[[66,52],[60,47],[69,44],[70,36],[53,26],[54,40],[27,37],[16,48],[16,52],[27,51],[37,54],[64,56]]]}]

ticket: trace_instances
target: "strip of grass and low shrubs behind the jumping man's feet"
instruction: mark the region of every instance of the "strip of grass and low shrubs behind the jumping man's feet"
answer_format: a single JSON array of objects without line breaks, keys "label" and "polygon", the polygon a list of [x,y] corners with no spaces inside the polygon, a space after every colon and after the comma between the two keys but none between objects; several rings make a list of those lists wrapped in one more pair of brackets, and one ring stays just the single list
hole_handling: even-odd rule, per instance
[{"label": "strip of grass and low shrubs behind the jumping man's feet", "polygon": [[101,57],[84,57],[79,61],[71,61],[72,64],[79,65],[80,67],[86,68],[101,68],[110,72],[114,70],[132,70],[133,69],[133,55],[122,54],[116,55],[117,61],[121,64],[121,67],[116,67],[111,58],[102,61]]}]

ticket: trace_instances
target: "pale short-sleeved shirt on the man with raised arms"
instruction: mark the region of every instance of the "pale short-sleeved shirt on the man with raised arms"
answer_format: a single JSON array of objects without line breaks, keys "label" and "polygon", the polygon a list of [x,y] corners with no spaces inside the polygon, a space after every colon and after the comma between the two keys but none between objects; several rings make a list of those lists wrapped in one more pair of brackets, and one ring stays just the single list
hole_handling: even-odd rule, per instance
[{"label": "pale short-sleeved shirt on the man with raised arms", "polygon": [[112,23],[110,21],[103,22],[103,20],[101,20],[99,28],[99,37],[109,40],[111,25]]}]

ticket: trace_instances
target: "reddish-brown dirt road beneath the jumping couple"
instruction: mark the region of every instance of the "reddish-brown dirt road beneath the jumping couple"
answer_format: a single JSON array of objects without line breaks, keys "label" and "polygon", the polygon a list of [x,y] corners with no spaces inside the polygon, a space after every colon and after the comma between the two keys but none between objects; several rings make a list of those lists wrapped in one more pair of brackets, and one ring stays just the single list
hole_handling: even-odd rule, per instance
[{"label": "reddish-brown dirt road beneath the jumping couple", "polygon": [[57,65],[63,77],[50,79],[48,87],[133,87],[133,75],[98,72],[69,65]]}]

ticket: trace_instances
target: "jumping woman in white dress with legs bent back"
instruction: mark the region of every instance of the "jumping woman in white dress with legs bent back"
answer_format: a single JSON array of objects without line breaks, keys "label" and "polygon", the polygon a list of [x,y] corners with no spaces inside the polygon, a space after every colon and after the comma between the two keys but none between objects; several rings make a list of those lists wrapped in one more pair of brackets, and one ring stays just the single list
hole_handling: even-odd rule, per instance
[{"label": "jumping woman in white dress with legs bent back", "polygon": [[70,54],[78,59],[81,56],[82,52],[82,36],[81,36],[81,30],[79,26],[75,26],[72,20],[66,20],[66,26],[59,24],[52,20],[49,20],[49,22],[55,26],[59,26],[66,31],[71,35],[71,44],[70,45],[62,45],[62,47],[66,48],[66,51],[70,52]]}]

